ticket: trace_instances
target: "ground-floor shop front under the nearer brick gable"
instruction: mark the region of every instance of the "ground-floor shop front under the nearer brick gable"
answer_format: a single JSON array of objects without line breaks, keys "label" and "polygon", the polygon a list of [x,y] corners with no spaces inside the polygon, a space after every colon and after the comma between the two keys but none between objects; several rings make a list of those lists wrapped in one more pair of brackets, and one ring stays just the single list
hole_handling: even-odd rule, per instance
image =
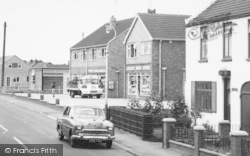
[{"label": "ground-floor shop front under the nearer brick gable", "polygon": [[151,91],[150,65],[130,65],[127,71],[127,96],[149,96]]}]

